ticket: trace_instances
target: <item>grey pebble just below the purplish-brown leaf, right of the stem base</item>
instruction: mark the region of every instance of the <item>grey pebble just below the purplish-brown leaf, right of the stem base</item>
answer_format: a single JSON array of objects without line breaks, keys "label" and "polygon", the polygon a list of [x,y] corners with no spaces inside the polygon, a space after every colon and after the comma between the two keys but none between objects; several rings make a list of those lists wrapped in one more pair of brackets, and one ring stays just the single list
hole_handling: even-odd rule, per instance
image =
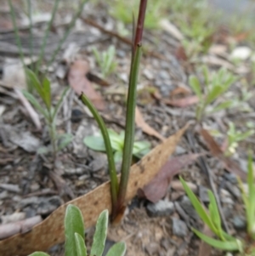
[{"label": "grey pebble just below the purplish-brown leaf, right of the stem base", "polygon": [[150,217],[168,216],[174,212],[173,202],[160,200],[156,203],[148,203],[146,211]]}]

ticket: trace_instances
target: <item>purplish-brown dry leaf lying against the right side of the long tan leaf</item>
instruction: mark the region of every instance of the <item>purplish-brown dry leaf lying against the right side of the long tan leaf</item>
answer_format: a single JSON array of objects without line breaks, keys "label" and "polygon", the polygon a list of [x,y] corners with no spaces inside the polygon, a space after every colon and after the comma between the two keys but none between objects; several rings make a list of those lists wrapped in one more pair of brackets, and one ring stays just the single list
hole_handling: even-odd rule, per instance
[{"label": "purplish-brown dry leaf lying against the right side of the long tan leaf", "polygon": [[179,174],[187,165],[190,165],[201,154],[188,154],[184,156],[177,156],[168,160],[161,168],[156,177],[145,185],[142,190],[139,190],[139,196],[144,196],[150,202],[158,202],[166,195],[168,185],[173,176]]}]

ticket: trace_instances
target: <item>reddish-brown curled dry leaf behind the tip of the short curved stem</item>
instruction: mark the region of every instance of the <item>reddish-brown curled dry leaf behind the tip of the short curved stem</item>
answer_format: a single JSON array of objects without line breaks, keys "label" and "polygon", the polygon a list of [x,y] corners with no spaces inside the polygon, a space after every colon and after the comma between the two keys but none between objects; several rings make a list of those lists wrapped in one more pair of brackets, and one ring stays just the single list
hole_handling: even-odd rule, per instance
[{"label": "reddish-brown curled dry leaf behind the tip of the short curved stem", "polygon": [[80,95],[82,93],[88,96],[88,99],[93,102],[98,110],[105,109],[105,102],[101,95],[97,93],[88,81],[86,74],[89,71],[88,62],[85,60],[76,60],[71,64],[70,70],[68,72],[68,82],[71,88]]}]

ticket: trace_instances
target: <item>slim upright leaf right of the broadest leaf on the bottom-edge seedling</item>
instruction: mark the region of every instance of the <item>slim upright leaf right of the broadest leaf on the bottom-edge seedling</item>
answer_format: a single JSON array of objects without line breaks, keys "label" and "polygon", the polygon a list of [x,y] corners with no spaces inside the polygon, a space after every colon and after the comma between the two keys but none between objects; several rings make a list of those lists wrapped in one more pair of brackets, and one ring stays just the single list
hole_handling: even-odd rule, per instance
[{"label": "slim upright leaf right of the broadest leaf on the bottom-edge seedling", "polygon": [[108,226],[108,210],[103,211],[97,220],[96,230],[94,233],[93,243],[90,254],[101,256],[105,249],[105,239]]}]

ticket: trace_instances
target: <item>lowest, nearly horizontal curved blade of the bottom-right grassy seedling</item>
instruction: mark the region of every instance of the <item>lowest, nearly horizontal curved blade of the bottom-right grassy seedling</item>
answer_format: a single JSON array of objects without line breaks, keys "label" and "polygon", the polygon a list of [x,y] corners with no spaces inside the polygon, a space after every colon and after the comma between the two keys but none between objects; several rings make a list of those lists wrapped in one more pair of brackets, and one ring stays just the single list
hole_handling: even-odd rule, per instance
[{"label": "lowest, nearly horizontal curved blade of the bottom-right grassy seedling", "polygon": [[224,251],[240,251],[240,242],[236,239],[235,241],[219,241],[212,237],[206,236],[198,230],[192,229],[196,236],[201,238],[204,242],[207,242],[212,247],[224,250]]}]

